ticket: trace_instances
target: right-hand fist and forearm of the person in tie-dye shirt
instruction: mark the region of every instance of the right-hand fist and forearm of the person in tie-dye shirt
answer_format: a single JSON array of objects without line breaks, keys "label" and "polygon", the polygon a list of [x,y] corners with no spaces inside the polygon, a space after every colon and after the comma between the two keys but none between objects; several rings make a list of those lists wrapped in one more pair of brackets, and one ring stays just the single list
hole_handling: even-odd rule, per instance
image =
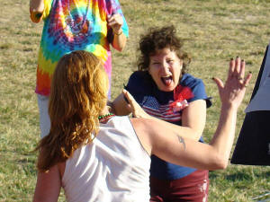
[{"label": "right-hand fist and forearm of the person in tie-dye shirt", "polygon": [[123,20],[122,20],[121,14],[116,13],[116,14],[108,16],[108,25],[112,27],[112,32],[113,32],[112,47],[119,51],[123,50],[127,42],[127,38],[123,34],[122,29],[121,29],[122,24],[123,24]]}]

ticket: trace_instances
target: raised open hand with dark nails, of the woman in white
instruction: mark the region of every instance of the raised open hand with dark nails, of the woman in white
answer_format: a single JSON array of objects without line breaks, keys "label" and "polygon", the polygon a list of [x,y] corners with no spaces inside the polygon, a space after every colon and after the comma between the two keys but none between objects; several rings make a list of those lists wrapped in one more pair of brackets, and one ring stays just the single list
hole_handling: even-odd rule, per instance
[{"label": "raised open hand with dark nails, of the woman in white", "polygon": [[236,57],[236,59],[229,61],[229,72],[225,84],[219,78],[213,78],[219,89],[222,106],[238,108],[243,101],[247,85],[252,76],[249,73],[245,77],[245,66],[245,61]]}]

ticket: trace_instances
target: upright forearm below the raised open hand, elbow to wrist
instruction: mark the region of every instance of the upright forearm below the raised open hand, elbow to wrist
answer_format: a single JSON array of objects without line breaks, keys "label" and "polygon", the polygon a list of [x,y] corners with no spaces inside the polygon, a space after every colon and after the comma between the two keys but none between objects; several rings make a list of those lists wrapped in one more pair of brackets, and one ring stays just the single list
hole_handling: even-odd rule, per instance
[{"label": "upright forearm below the raised open hand, elbow to wrist", "polygon": [[235,128],[237,121],[237,108],[233,106],[222,106],[220,120],[215,135],[211,140],[214,152],[220,159],[221,167],[228,165],[229,154],[234,142]]}]

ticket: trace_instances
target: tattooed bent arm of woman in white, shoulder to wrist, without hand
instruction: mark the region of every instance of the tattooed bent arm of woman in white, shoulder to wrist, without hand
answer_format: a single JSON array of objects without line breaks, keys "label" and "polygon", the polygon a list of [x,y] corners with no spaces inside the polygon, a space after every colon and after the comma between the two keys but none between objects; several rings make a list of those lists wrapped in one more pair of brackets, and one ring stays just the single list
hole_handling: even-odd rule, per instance
[{"label": "tattooed bent arm of woman in white, shoulder to wrist, without hand", "polygon": [[[132,119],[132,124],[148,154],[155,154],[166,162],[183,166],[217,170],[226,168],[229,158],[226,154],[229,153],[234,138],[234,127],[230,125],[234,124],[236,110],[228,110],[227,114],[224,112],[221,112],[220,129],[213,137],[211,145],[185,138],[154,120]],[[216,137],[219,137],[219,141],[214,140]],[[221,142],[223,145],[219,145]]]}]

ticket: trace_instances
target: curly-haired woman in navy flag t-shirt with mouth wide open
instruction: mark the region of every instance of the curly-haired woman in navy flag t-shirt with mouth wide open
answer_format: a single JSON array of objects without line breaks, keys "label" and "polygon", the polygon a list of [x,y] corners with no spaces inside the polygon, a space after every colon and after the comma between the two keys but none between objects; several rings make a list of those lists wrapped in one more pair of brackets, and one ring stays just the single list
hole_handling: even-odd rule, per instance
[{"label": "curly-haired woman in navy flag t-shirt with mouth wide open", "polygon": [[[174,26],[152,28],[139,40],[139,71],[130,75],[126,90],[139,103],[124,108],[120,95],[113,101],[118,115],[155,119],[160,125],[203,142],[206,108],[211,101],[201,79],[186,74],[191,58]],[[208,171],[187,168],[152,156],[151,201],[206,201]]]}]

